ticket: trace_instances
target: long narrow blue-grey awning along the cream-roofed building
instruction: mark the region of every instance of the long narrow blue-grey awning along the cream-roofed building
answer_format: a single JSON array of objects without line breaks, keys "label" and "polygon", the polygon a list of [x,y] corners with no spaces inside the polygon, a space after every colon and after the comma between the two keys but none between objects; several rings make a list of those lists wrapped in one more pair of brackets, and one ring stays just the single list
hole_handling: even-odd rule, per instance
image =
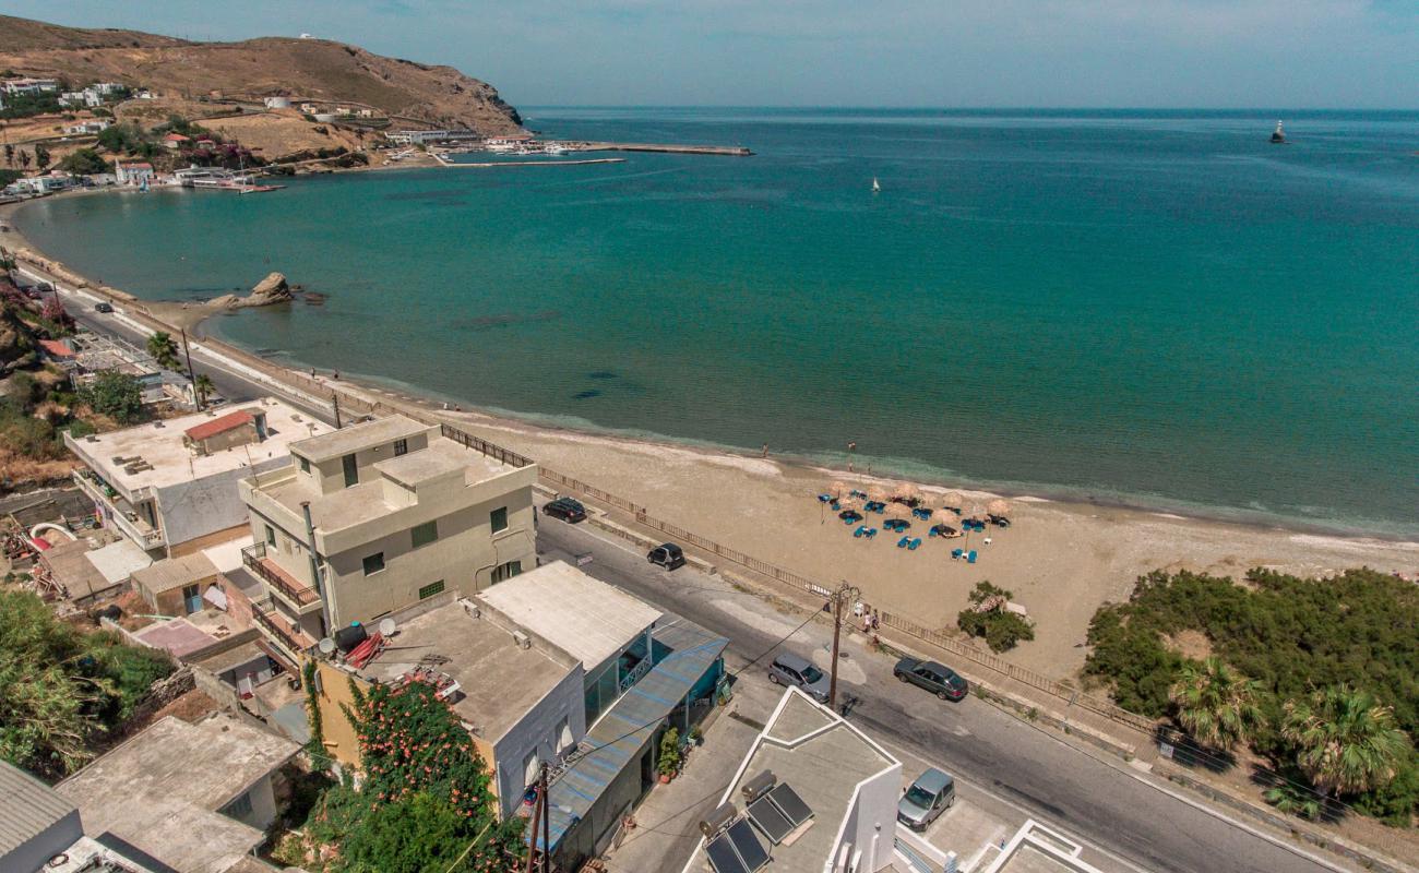
[{"label": "long narrow blue-grey awning along the cream-roofed building", "polygon": [[[654,636],[663,639],[658,632]],[[666,637],[667,644],[670,639]],[[631,758],[639,757],[656,728],[704,679],[729,644],[722,636],[694,625],[675,626],[673,639],[684,647],[667,654],[612,704],[583,741],[595,751],[578,759],[552,784],[553,849],[572,825],[586,816]],[[536,835],[536,842],[539,849],[545,847],[541,833]]]}]

